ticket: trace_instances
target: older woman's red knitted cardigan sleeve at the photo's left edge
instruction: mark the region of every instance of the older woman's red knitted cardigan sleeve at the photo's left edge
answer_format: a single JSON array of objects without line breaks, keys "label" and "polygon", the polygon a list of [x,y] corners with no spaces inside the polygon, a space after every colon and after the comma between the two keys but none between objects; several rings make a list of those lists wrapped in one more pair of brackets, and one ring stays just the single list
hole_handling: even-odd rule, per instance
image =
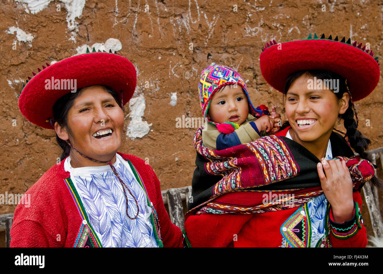
[{"label": "older woman's red knitted cardigan sleeve at the photo's left edge", "polygon": [[[25,192],[28,206],[18,204],[11,227],[11,247],[62,247],[65,244],[68,217],[63,195],[54,169],[44,175]],[[70,197],[69,197],[70,199]],[[71,202],[71,201],[69,201]]]}]

